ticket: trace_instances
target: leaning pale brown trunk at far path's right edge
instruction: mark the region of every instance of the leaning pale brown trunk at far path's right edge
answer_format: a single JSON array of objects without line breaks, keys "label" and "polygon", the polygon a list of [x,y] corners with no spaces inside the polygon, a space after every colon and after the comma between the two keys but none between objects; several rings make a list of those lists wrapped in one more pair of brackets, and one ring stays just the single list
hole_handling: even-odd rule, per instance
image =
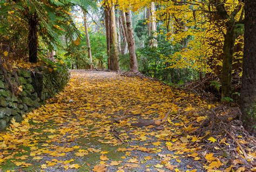
[{"label": "leaning pale brown trunk at far path's right edge", "polygon": [[131,11],[125,12],[125,19],[126,19],[126,29],[127,29],[127,43],[129,47],[129,54],[130,54],[130,71],[131,72],[138,72],[138,61],[135,52],[135,41],[134,41],[134,33],[132,29],[132,19],[131,19]]}]

